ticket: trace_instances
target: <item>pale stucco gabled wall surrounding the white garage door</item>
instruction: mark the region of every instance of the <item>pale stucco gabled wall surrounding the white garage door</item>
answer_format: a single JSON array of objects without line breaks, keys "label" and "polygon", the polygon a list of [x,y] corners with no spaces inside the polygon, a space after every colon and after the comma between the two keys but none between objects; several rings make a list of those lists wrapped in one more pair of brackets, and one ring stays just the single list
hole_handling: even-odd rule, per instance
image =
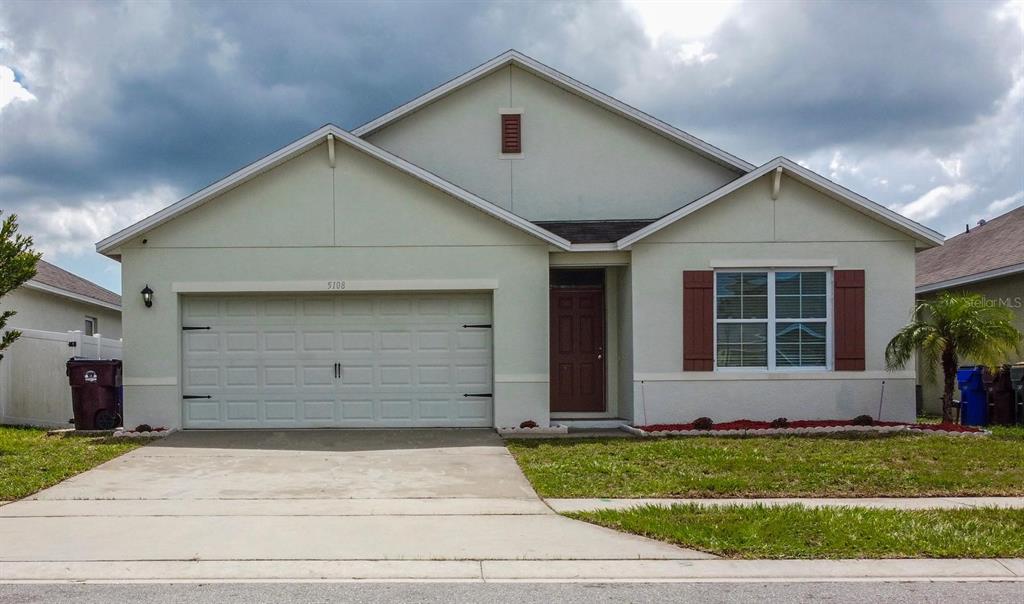
[{"label": "pale stucco gabled wall surrounding the white garage door", "polygon": [[497,282],[496,423],[548,422],[547,245],[344,144],[337,154],[332,170],[319,145],[122,248],[124,291],[156,292],[148,309],[125,300],[127,425],[180,426],[176,289],[437,279]]}]

